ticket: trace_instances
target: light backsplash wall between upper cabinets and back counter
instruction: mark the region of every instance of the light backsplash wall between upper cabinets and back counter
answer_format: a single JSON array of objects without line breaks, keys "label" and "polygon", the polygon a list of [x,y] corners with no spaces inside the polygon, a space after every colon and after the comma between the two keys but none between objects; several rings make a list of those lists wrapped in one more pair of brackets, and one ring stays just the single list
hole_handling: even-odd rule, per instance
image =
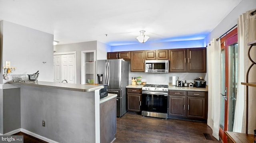
[{"label": "light backsplash wall between upper cabinets and back counter", "polygon": [[[172,83],[172,76],[180,77],[180,80],[187,83],[194,83],[194,79],[202,77],[203,79],[206,76],[206,73],[201,72],[169,72],[169,73],[145,73],[145,72],[131,72],[129,64],[129,84],[132,84],[132,77],[142,76],[142,82],[147,84],[169,84]],[[207,81],[206,81],[206,84]]]}]

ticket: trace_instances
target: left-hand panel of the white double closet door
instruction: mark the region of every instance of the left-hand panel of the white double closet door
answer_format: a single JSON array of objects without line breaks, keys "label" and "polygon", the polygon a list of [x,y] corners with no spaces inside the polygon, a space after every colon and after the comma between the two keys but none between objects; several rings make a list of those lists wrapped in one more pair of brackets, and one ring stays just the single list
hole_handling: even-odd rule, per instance
[{"label": "left-hand panel of the white double closet door", "polygon": [[54,82],[61,82],[61,55],[53,56]]}]

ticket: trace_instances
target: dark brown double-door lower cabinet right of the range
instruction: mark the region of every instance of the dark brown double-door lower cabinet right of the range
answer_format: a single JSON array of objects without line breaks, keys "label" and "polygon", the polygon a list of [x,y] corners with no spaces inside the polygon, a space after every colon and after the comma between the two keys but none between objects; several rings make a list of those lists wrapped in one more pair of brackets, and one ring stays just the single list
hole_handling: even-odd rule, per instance
[{"label": "dark brown double-door lower cabinet right of the range", "polygon": [[207,120],[207,92],[169,90],[168,118]]}]

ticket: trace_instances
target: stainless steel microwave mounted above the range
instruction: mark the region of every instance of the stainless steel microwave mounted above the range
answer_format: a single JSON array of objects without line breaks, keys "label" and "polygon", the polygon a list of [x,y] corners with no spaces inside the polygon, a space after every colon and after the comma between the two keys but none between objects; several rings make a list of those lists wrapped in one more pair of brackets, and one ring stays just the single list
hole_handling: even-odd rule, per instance
[{"label": "stainless steel microwave mounted above the range", "polygon": [[169,60],[145,60],[145,72],[168,73]]}]

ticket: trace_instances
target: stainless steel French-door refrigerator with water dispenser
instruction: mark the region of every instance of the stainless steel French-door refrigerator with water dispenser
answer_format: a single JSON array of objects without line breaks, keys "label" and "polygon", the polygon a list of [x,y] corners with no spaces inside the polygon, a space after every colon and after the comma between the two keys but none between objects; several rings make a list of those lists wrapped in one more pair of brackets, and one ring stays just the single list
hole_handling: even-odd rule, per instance
[{"label": "stainless steel French-door refrigerator with water dispenser", "polygon": [[126,86],[129,78],[129,63],[123,59],[97,60],[95,63],[96,81],[108,84],[108,93],[117,94],[116,116],[126,112]]}]

